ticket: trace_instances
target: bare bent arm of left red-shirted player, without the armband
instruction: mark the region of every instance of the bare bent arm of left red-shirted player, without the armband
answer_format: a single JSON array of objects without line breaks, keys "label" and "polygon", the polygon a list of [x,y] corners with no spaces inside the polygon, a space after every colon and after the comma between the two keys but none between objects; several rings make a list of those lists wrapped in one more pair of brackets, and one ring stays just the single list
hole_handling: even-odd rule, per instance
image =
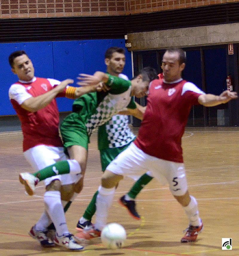
[{"label": "bare bent arm of left red-shirted player, without the armband", "polygon": [[21,107],[30,112],[36,112],[43,109],[56,97],[56,95],[62,92],[68,84],[72,84],[73,82],[74,81],[72,79],[66,79],[49,92],[28,98],[21,104]]}]

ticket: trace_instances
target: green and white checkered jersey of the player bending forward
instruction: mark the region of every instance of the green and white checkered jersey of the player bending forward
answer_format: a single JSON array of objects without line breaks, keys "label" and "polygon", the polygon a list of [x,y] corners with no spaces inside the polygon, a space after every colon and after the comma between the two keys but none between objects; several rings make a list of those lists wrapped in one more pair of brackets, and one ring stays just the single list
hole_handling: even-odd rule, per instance
[{"label": "green and white checkered jersey of the player bending forward", "polygon": [[87,129],[88,136],[96,127],[104,124],[125,107],[135,109],[131,94],[131,81],[109,75],[106,83],[109,92],[92,92],[76,99],[73,103],[73,113],[68,115],[61,127],[65,129]]}]

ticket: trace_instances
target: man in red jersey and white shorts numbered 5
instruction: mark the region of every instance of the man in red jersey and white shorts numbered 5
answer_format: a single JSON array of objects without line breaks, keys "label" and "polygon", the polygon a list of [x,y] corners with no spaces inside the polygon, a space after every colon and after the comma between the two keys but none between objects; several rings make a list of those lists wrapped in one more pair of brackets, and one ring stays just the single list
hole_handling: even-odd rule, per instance
[{"label": "man in red jersey and white shorts numbered 5", "polygon": [[191,106],[227,103],[236,99],[237,93],[224,91],[219,96],[205,94],[193,83],[182,79],[185,65],[186,57],[182,49],[166,50],[162,61],[164,80],[152,81],[138,136],[106,168],[96,199],[96,223],[94,228],[79,233],[78,240],[86,241],[100,236],[107,222],[115,186],[124,176],[137,175],[146,170],[151,171],[161,183],[169,184],[172,195],[182,205],[189,219],[189,227],[181,243],[196,241],[203,223],[197,201],[188,192],[181,138]]}]

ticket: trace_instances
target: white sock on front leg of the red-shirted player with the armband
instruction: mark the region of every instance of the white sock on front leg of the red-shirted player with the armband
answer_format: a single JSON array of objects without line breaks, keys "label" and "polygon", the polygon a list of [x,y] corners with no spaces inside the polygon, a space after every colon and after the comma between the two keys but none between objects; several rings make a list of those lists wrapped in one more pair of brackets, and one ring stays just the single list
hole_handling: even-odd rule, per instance
[{"label": "white sock on front leg of the red-shirted player with the armband", "polygon": [[69,234],[60,191],[46,191],[44,194],[44,202],[46,210],[55,225],[58,236]]}]

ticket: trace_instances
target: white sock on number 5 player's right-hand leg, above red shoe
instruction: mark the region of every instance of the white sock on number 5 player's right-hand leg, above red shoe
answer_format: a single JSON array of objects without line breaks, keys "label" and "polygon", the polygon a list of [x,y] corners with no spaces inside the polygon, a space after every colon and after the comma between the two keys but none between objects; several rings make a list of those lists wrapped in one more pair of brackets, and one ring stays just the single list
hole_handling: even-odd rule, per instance
[{"label": "white sock on number 5 player's right-hand leg, above red shoe", "polygon": [[183,207],[183,209],[189,218],[190,225],[200,226],[201,219],[199,218],[199,211],[197,208],[197,200],[193,196],[190,196],[190,197],[191,197],[191,200],[189,202],[189,205],[186,207]]}]

